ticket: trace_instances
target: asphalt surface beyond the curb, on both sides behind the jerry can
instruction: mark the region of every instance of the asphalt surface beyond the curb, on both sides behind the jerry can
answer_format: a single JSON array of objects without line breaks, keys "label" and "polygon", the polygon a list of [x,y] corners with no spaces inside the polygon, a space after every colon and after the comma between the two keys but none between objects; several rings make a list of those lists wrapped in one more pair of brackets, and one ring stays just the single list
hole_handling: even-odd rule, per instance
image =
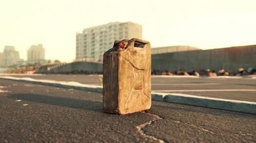
[{"label": "asphalt surface beyond the curb, on both sides behind the jerry can", "polygon": [[[100,85],[98,75],[19,75],[57,81],[76,81],[84,84]],[[181,93],[203,97],[256,102],[256,79],[254,78],[190,78],[152,76],[152,91]]]}]

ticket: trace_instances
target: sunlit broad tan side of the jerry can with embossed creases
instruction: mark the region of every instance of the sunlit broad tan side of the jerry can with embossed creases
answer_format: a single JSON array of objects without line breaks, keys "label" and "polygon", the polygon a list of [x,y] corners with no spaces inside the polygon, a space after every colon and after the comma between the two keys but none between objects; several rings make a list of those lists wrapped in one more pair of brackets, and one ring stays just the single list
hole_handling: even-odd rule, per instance
[{"label": "sunlit broad tan side of the jerry can with embossed creases", "polygon": [[151,49],[127,48],[119,52],[118,109],[120,114],[151,107]]}]

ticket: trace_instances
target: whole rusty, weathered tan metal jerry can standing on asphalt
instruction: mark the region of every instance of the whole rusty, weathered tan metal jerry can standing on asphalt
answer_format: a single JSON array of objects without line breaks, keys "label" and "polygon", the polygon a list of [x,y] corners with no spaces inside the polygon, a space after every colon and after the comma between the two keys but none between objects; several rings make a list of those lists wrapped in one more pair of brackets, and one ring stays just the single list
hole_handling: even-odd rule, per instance
[{"label": "whole rusty, weathered tan metal jerry can standing on asphalt", "polygon": [[151,107],[151,45],[115,41],[103,55],[103,110],[125,115]]}]

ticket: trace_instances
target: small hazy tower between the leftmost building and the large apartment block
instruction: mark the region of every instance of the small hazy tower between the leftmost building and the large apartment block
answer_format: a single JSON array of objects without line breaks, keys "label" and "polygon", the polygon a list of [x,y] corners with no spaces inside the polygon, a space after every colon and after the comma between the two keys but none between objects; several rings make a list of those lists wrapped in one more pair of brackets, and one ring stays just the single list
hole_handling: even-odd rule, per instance
[{"label": "small hazy tower between the leftmost building and the large apartment block", "polygon": [[31,45],[27,52],[27,60],[30,63],[45,60],[45,48],[42,47],[42,44]]}]

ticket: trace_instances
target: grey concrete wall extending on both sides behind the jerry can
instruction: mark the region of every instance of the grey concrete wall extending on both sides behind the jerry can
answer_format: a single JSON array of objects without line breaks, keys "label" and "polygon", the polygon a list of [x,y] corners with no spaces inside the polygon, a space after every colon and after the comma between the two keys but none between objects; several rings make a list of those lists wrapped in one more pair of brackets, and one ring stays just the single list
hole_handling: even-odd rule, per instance
[{"label": "grey concrete wall extending on both sides behind the jerry can", "polygon": [[[36,73],[71,73],[74,71],[99,72],[103,71],[101,63],[73,62],[56,66],[48,70],[49,66],[42,66]],[[256,69],[256,45],[230,47],[210,50],[194,50],[152,54],[152,70],[187,71],[212,69],[236,70],[238,68]]]}]

